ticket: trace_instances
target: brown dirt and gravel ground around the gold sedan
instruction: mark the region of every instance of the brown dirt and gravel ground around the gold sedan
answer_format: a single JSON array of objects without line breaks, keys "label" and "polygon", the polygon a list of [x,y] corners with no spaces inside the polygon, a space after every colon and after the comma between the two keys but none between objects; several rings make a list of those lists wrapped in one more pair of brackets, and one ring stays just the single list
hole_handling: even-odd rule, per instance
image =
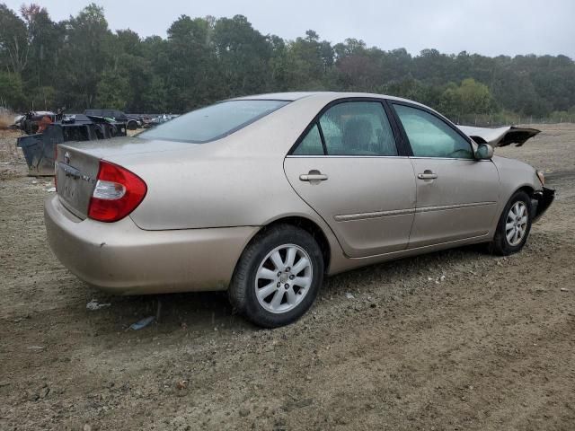
[{"label": "brown dirt and gravel ground around the gold sedan", "polygon": [[[575,429],[575,126],[540,128],[498,151],[557,189],[523,252],[332,277],[279,330],[221,294],[85,286],[46,243],[50,180],[0,136],[0,429]],[[127,330],[158,304],[159,321]]]}]

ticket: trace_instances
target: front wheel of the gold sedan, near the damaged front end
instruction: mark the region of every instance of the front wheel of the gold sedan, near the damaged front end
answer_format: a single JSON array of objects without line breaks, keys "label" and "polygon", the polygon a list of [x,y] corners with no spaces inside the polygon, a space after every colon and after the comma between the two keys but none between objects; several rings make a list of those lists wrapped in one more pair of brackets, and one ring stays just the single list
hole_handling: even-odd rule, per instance
[{"label": "front wheel of the gold sedan, near the damaged front end", "polygon": [[501,256],[517,253],[527,241],[531,231],[531,199],[525,191],[517,191],[500,216],[497,232],[491,242],[491,251]]}]

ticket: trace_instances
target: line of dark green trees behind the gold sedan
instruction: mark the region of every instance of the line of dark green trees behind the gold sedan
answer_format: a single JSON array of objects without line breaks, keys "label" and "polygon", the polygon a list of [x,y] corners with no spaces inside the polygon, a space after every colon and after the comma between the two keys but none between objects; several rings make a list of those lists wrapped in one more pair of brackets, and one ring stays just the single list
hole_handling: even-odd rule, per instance
[{"label": "line of dark green trees behind the gold sedan", "polygon": [[566,56],[485,57],[333,44],[315,31],[264,35],[245,16],[181,15],[167,38],[111,31],[103,8],[54,22],[37,4],[0,4],[0,106],[68,111],[185,112],[261,92],[376,92],[469,115],[575,118],[575,63]]}]

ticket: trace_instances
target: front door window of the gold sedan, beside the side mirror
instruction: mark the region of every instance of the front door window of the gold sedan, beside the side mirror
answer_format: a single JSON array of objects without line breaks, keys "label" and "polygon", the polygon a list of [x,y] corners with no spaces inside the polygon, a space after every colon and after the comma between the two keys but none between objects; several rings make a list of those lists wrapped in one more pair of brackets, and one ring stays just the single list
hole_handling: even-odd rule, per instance
[{"label": "front door window of the gold sedan, beside the side mirror", "polygon": [[435,115],[394,104],[415,157],[473,159],[471,144]]}]

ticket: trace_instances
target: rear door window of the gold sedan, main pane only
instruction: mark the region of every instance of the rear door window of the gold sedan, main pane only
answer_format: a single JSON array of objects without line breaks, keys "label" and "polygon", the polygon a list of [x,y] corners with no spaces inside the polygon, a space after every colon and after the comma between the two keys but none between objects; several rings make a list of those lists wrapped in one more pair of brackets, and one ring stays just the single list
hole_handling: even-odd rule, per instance
[{"label": "rear door window of the gold sedan, main pane only", "polygon": [[328,155],[397,155],[394,133],[377,101],[346,101],[320,118]]}]

